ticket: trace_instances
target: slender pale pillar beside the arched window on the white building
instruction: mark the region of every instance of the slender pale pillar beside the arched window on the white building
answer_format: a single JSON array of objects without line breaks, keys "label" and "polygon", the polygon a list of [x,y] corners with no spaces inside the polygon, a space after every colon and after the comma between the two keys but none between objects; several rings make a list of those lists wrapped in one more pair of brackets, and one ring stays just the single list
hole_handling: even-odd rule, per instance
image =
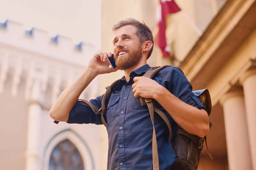
[{"label": "slender pale pillar beside the arched window on the white building", "polygon": [[31,102],[29,105],[26,170],[38,170],[41,168],[39,157],[40,123],[42,108],[39,104],[40,83],[35,81],[31,91]]}]

